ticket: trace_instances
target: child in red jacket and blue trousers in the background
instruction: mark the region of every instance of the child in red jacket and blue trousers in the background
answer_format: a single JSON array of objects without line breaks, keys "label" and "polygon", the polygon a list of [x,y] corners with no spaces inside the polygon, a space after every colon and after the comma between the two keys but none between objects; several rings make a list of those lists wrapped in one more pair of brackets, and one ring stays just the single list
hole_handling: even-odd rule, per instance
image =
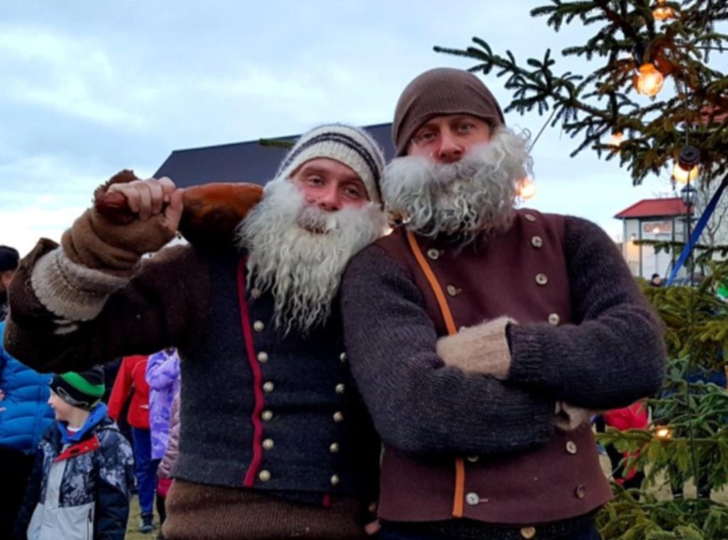
[{"label": "child in red jacket and blue trousers in the background", "polygon": [[146,382],[146,356],[124,357],[116,374],[114,389],[108,400],[108,414],[114,420],[131,397],[127,421],[132,426],[134,469],[141,508],[141,533],[154,530],[154,490],[157,487],[157,464],[151,460],[149,432],[149,384]]}]

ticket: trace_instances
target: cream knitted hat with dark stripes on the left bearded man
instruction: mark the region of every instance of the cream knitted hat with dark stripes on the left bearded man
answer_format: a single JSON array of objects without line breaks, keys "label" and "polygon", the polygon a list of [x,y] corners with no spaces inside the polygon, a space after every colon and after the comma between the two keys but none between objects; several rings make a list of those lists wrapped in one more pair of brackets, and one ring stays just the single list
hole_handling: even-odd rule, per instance
[{"label": "cream knitted hat with dark stripes on the left bearded man", "polygon": [[289,178],[302,164],[320,157],[347,165],[362,179],[369,200],[381,204],[384,152],[371,135],[357,127],[325,124],[304,133],[285,156],[276,178]]}]

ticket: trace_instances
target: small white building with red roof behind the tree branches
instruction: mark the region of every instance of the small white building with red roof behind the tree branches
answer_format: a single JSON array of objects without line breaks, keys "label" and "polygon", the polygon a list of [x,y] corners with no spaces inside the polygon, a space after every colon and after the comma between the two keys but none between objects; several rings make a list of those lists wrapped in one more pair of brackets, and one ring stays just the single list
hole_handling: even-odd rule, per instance
[{"label": "small white building with red roof behind the tree branches", "polygon": [[622,220],[622,255],[632,274],[645,279],[652,274],[666,277],[670,273],[673,255],[654,247],[640,245],[640,240],[684,242],[687,206],[679,197],[642,199],[614,216]]}]

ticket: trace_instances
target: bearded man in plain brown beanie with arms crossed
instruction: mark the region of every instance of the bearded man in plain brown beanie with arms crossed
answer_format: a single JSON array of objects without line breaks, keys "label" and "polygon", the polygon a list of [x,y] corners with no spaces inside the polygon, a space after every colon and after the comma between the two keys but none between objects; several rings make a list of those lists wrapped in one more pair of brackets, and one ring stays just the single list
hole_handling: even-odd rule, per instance
[{"label": "bearded man in plain brown beanie with arms crossed", "polygon": [[527,140],[476,76],[418,76],[393,131],[382,194],[404,224],[341,293],[384,442],[381,539],[598,539],[590,411],[660,388],[660,322],[598,226],[515,210]]}]

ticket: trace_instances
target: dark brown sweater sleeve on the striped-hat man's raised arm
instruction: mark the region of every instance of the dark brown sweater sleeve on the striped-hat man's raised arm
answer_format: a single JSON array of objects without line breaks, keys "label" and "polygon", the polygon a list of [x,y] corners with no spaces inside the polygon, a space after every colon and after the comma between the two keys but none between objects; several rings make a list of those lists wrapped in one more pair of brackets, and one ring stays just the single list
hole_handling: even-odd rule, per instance
[{"label": "dark brown sweater sleeve on the striped-hat man's raised arm", "polygon": [[20,262],[9,286],[12,314],[4,346],[33,369],[81,371],[117,357],[151,354],[185,345],[202,327],[209,268],[190,246],[168,247],[146,260],[90,320],[54,314],[36,295],[31,274],[55,250],[55,242],[41,240]]}]

